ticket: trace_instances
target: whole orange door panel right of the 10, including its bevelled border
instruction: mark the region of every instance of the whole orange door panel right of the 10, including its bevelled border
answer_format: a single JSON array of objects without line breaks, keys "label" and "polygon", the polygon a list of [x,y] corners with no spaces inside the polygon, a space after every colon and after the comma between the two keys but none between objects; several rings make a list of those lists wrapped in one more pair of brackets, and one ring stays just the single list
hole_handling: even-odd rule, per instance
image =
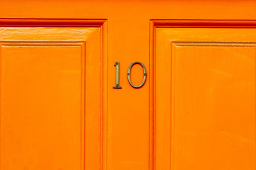
[{"label": "whole orange door panel right of the 10, including its bevelled border", "polygon": [[254,29],[156,28],[156,169],[255,169]]}]

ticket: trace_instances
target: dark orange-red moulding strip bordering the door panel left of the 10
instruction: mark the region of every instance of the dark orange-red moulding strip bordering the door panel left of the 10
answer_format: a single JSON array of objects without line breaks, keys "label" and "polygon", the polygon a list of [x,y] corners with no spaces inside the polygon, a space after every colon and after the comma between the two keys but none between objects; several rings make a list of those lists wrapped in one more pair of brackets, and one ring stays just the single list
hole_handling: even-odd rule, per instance
[{"label": "dark orange-red moulding strip bordering the door panel left of the 10", "polygon": [[[0,18],[0,27],[100,27],[100,170],[107,169],[107,19]],[[31,41],[32,42],[32,41]],[[31,43],[30,42],[30,43]],[[63,43],[63,42],[61,42]],[[85,42],[84,42],[85,43]],[[1,62],[1,42],[0,42]],[[105,67],[104,67],[104,66]],[[1,68],[0,68],[1,71]],[[85,74],[85,73],[84,73]],[[0,73],[1,90],[1,73]],[[1,92],[1,91],[0,91]],[[0,94],[1,95],[1,94]],[[1,101],[0,101],[1,110]],[[1,115],[1,112],[0,112]],[[1,120],[0,120],[1,122]],[[85,130],[85,129],[84,129]],[[0,129],[1,131],[1,129]],[[104,138],[103,138],[104,137]],[[84,139],[85,141],[85,139]],[[1,148],[0,148],[1,149]],[[1,152],[0,152],[1,153]],[[102,160],[104,159],[104,160]],[[84,169],[84,168],[83,168]]]}]

